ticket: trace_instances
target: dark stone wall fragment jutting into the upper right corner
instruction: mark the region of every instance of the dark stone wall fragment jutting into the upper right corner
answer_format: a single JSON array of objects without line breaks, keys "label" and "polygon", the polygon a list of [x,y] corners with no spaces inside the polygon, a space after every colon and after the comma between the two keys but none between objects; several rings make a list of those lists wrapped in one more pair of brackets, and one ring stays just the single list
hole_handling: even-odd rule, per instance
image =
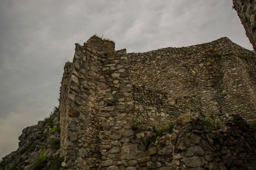
[{"label": "dark stone wall fragment jutting into the upper right corner", "polygon": [[233,0],[234,9],[244,26],[245,33],[256,50],[256,0]]}]

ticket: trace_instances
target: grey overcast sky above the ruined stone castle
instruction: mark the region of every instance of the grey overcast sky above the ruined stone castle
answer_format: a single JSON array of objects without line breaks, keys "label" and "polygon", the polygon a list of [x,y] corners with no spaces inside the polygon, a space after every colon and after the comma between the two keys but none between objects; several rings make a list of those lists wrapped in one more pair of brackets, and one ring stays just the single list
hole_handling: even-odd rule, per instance
[{"label": "grey overcast sky above the ruined stone castle", "polygon": [[252,50],[232,0],[0,0],[0,158],[58,105],[64,63],[93,34],[145,52],[228,37]]}]

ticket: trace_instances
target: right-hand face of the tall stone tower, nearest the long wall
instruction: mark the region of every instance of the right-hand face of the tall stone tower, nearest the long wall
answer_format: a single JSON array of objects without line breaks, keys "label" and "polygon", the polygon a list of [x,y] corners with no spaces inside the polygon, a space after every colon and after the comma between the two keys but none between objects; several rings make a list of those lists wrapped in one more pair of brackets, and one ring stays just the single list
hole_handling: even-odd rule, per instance
[{"label": "right-hand face of the tall stone tower, nearest the long wall", "polygon": [[134,107],[126,49],[109,53],[103,63],[105,81],[98,88],[101,119],[99,168],[118,170],[133,167],[137,164],[134,161],[137,145],[134,143],[134,130],[130,123]]}]

